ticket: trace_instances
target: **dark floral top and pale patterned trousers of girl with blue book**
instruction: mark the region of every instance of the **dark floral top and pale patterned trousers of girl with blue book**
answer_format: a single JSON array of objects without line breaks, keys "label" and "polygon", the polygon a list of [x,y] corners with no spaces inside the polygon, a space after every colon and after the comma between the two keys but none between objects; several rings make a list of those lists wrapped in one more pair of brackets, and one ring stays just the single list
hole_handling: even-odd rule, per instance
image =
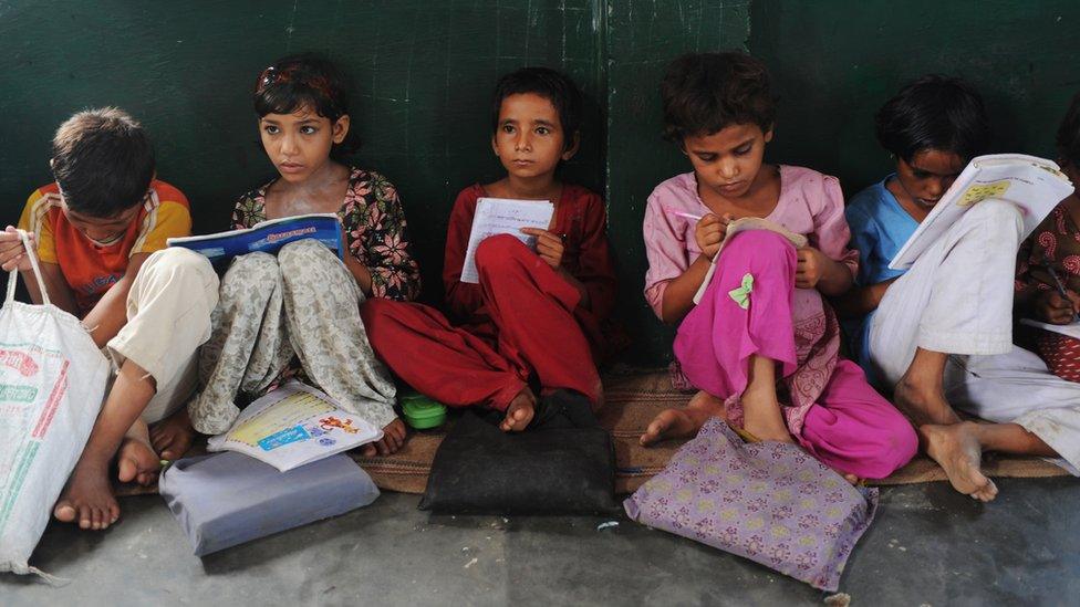
[{"label": "dark floral top and pale patterned trousers of girl with blue book", "polygon": [[[267,219],[267,186],[240,198],[235,228]],[[352,169],[338,212],[349,253],[372,274],[370,296],[412,300],[419,271],[408,254],[397,191],[381,175]],[[367,339],[361,292],[352,273],[322,244],[300,240],[276,255],[232,260],[221,278],[210,339],[199,355],[201,390],[188,405],[193,426],[216,435],[247,400],[294,377],[318,386],[376,427],[396,415],[393,378]]]}]

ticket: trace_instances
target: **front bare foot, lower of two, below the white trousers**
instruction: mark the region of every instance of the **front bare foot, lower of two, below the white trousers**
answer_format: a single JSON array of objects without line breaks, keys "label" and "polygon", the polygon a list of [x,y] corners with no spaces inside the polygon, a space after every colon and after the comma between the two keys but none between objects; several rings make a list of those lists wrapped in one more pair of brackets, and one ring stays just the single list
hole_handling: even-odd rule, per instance
[{"label": "front bare foot, lower of two, below the white trousers", "polygon": [[953,489],[989,502],[997,496],[997,485],[979,469],[983,446],[974,426],[970,421],[948,426],[927,423],[918,432],[926,439],[926,454],[945,470]]}]

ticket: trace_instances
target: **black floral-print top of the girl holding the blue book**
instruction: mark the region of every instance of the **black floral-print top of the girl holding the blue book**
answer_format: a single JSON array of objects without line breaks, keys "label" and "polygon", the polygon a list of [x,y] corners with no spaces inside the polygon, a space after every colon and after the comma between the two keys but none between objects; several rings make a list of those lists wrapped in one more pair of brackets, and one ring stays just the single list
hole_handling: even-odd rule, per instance
[{"label": "black floral-print top of the girl holding the blue book", "polygon": [[[272,184],[240,197],[232,211],[233,229],[267,220],[267,188]],[[377,172],[352,167],[338,217],[345,227],[349,252],[371,271],[371,296],[415,300],[420,293],[420,271],[408,252],[397,188]]]}]

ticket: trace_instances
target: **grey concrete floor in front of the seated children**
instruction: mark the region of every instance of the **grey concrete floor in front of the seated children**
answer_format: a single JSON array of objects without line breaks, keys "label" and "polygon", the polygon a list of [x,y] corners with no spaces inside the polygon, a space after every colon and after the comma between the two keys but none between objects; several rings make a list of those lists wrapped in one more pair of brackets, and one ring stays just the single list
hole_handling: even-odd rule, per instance
[{"label": "grey concrete floor in front of the seated children", "polygon": [[[945,483],[887,488],[848,562],[852,605],[1080,604],[1080,482],[1004,479],[982,505]],[[0,574],[0,605],[821,605],[824,593],[622,520],[434,516],[418,498],[204,559],[157,496],[122,500],[104,534],[50,526],[32,564]]]}]

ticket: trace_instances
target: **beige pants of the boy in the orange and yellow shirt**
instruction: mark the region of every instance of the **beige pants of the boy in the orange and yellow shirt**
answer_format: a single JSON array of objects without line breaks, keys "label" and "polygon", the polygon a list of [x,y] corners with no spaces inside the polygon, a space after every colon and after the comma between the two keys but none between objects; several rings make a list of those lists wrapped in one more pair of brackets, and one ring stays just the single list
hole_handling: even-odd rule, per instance
[{"label": "beige pants of the boy in the orange and yellow shirt", "polygon": [[[152,254],[127,294],[127,324],[105,346],[115,371],[125,360],[146,369],[157,393],[143,410],[147,423],[165,419],[198,387],[198,352],[210,338],[218,276],[187,249]],[[111,386],[110,386],[111,389]]]}]

